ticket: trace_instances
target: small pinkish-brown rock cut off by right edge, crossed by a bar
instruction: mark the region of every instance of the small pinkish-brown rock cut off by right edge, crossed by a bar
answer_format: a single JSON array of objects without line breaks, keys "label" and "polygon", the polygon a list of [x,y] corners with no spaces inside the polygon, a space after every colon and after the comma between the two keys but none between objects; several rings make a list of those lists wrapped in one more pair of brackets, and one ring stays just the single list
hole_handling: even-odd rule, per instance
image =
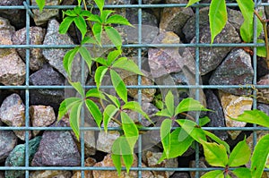
[{"label": "small pinkish-brown rock cut off by right edge, crossed by a bar", "polygon": [[[256,84],[269,85],[269,74],[262,77]],[[258,89],[257,96],[258,102],[269,104],[269,89]]]}]

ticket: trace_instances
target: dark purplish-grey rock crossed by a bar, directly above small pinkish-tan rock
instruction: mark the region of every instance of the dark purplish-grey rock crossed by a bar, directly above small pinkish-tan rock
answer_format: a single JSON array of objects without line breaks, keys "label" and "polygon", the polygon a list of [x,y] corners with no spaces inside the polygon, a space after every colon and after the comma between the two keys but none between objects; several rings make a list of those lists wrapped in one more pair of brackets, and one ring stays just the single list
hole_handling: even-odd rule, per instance
[{"label": "dark purplish-grey rock crossed by a bar, directly above small pinkish-tan rock", "polygon": [[[45,65],[38,72],[30,75],[30,85],[57,85],[64,86],[65,78],[52,67]],[[58,110],[60,103],[65,99],[64,89],[33,89],[30,90],[30,105],[52,106]]]}]

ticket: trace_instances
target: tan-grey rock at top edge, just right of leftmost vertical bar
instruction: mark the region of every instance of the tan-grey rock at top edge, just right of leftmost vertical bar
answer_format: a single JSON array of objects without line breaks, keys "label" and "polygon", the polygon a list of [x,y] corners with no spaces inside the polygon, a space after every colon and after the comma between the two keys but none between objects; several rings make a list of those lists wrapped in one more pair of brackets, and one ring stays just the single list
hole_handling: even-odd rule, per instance
[{"label": "tan-grey rock at top edge, just right of leftmost vertical bar", "polygon": [[[30,0],[32,5],[37,5],[36,0]],[[58,0],[47,0],[46,5],[57,5]],[[43,9],[42,13],[39,9],[33,9],[32,13],[34,13],[34,21],[37,26],[47,24],[48,20],[52,17],[58,16],[59,10],[58,9]]]}]

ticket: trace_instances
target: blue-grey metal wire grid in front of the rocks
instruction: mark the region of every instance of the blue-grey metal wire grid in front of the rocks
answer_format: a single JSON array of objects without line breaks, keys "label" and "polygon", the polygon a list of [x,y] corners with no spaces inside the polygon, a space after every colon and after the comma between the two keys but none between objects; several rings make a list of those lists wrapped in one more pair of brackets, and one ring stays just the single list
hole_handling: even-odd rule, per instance
[{"label": "blue-grey metal wire grid in front of the rocks", "polygon": [[[256,2],[256,1],[255,1]],[[268,3],[261,3],[256,2],[256,5],[262,5],[266,6],[269,5]],[[146,8],[163,8],[163,7],[182,7],[184,8],[186,4],[142,4],[142,0],[138,0],[138,4],[130,4],[130,5],[105,5],[105,8],[134,8],[138,11],[138,44],[134,45],[123,45],[123,47],[133,47],[137,49],[138,53],[138,66],[141,68],[141,58],[142,58],[142,48],[149,48],[149,47],[195,47],[195,85],[187,85],[187,86],[143,86],[141,83],[141,78],[138,79],[138,84],[135,86],[128,86],[128,88],[132,89],[138,89],[139,90],[139,103],[142,103],[141,98],[141,90],[142,89],[152,89],[152,88],[158,88],[158,89],[195,89],[195,99],[199,99],[199,89],[239,89],[239,88],[249,88],[248,85],[242,86],[242,85],[201,85],[199,82],[199,48],[201,47],[254,47],[254,55],[253,55],[253,68],[254,68],[254,79],[253,79],[253,85],[256,87],[256,89],[269,89],[269,85],[263,85],[258,86],[256,85],[256,73],[257,73],[257,63],[256,63],[256,47],[265,46],[264,44],[257,44],[256,43],[256,25],[255,25],[255,35],[254,35],[254,42],[253,43],[247,43],[247,44],[200,44],[199,43],[199,9],[204,6],[209,6],[209,4],[195,4],[195,43],[193,44],[142,44],[142,12]],[[238,4],[227,4],[229,7],[238,6]],[[74,8],[73,5],[55,5],[55,6],[46,6],[45,8],[48,9],[71,9]],[[30,16],[33,14],[31,13],[31,9],[38,9],[37,6],[30,5],[30,0],[26,0],[23,2],[23,5],[18,6],[0,6],[0,10],[6,10],[6,9],[24,9],[26,10],[26,45],[0,45],[0,48],[25,48],[26,49],[26,81],[25,84],[22,86],[0,86],[0,89],[22,89],[25,92],[25,106],[26,106],[26,115],[25,115],[25,122],[26,125],[24,127],[0,127],[0,131],[7,131],[7,130],[13,130],[13,131],[26,131],[25,132],[25,143],[26,143],[26,151],[25,151],[25,166],[21,167],[9,167],[9,166],[0,166],[0,171],[3,170],[23,170],[25,171],[25,177],[28,178],[30,175],[30,171],[35,170],[78,170],[82,171],[82,177],[84,177],[84,171],[86,170],[116,170],[114,167],[88,167],[84,166],[84,134],[83,131],[99,131],[98,128],[95,127],[82,127],[81,128],[81,166],[30,166],[29,163],[29,139],[30,134],[29,131],[71,131],[71,128],[68,127],[30,127],[30,114],[29,114],[29,106],[30,106],[30,91],[31,89],[66,89],[66,87],[63,86],[30,86],[29,84],[29,76],[30,76],[30,49],[31,48],[72,48],[76,47],[75,45],[62,45],[62,46],[48,46],[48,45],[30,45]],[[255,21],[257,21],[255,17]],[[255,23],[256,24],[256,23]],[[83,68],[83,66],[82,66]],[[83,72],[82,72],[83,73]],[[85,88],[92,88],[93,86],[85,86]],[[68,88],[68,87],[67,87]],[[254,91],[254,95],[256,95],[256,92]],[[254,98],[254,108],[256,108],[256,99]],[[82,117],[83,118],[83,117]],[[196,115],[196,120],[198,122],[198,115]],[[83,119],[82,119],[83,123]],[[82,124],[83,125],[83,124]],[[115,128],[108,128],[109,130],[115,130]],[[154,130],[154,129],[160,129],[159,127],[154,128],[147,128],[146,130]],[[254,143],[256,143],[256,131],[269,131],[267,128],[262,127],[256,127],[254,125],[253,127],[204,127],[204,130],[207,131],[253,131],[254,133]],[[142,140],[141,138],[138,141],[139,150],[141,150]],[[209,167],[209,168],[201,168],[199,167],[199,148],[198,144],[196,144],[195,148],[195,168],[189,168],[189,167],[178,167],[178,168],[164,168],[164,167],[142,167],[142,154],[138,153],[138,166],[132,167],[131,170],[137,171],[139,177],[142,177],[143,171],[177,171],[177,172],[188,172],[188,171],[194,171],[195,177],[199,177],[199,172],[204,171],[211,171],[211,170],[217,170],[220,168],[217,167]],[[265,171],[269,171],[268,169],[265,169]]]}]

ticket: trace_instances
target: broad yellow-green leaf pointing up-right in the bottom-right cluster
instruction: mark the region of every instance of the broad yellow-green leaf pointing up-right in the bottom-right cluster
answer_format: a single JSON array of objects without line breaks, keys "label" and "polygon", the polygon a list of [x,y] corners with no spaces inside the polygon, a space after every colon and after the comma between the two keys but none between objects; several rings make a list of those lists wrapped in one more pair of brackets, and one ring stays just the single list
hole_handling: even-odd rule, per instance
[{"label": "broad yellow-green leaf pointing up-right in the bottom-right cluster", "polygon": [[229,163],[230,166],[246,165],[251,156],[251,150],[247,146],[246,138],[240,141],[230,153]]}]

